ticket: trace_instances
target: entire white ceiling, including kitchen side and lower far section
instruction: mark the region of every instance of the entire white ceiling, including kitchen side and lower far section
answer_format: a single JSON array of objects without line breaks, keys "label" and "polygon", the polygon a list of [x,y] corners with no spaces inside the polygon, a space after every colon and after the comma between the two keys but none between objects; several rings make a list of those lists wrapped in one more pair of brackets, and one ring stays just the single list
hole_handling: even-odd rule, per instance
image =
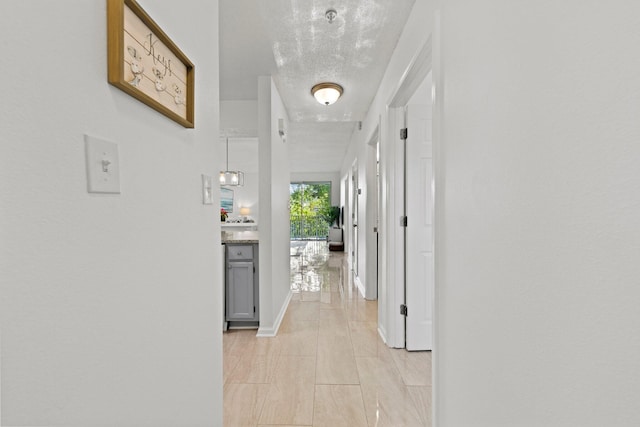
[{"label": "entire white ceiling, including kitchen side and lower far section", "polygon": [[[220,97],[257,99],[258,76],[272,75],[289,115],[291,170],[338,171],[414,2],[221,0]],[[323,81],[344,88],[333,105],[310,93]]]}]

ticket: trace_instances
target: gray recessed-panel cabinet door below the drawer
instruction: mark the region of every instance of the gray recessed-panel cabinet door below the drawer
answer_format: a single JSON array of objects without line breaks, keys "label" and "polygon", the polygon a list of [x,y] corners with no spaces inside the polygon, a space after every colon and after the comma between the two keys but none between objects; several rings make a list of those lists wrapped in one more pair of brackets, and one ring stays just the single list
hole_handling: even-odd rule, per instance
[{"label": "gray recessed-panel cabinet door below the drawer", "polygon": [[254,320],[253,262],[234,261],[227,268],[227,320]]}]

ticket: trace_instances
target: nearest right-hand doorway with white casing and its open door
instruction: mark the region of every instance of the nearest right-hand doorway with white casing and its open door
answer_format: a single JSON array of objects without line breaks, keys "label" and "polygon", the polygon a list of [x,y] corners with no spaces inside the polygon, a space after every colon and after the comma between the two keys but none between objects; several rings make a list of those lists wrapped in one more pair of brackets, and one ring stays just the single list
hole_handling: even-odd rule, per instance
[{"label": "nearest right-hand doorway with white casing and its open door", "polygon": [[392,174],[394,204],[385,218],[390,252],[383,330],[388,345],[415,351],[434,347],[433,47],[429,37],[388,101],[394,143],[385,170]]}]

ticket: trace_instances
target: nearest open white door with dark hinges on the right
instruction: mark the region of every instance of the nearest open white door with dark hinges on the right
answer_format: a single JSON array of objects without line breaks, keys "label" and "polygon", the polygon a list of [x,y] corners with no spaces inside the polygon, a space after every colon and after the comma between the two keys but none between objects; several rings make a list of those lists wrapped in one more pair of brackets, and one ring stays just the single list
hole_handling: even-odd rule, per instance
[{"label": "nearest open white door with dark hinges on the right", "polygon": [[406,348],[431,350],[434,291],[431,106],[408,105],[406,123]]}]

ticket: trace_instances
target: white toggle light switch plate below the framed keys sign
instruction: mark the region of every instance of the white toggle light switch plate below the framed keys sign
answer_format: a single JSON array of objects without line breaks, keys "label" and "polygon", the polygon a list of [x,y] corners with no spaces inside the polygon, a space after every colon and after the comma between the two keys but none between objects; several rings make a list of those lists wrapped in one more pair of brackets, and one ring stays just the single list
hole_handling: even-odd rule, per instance
[{"label": "white toggle light switch plate below the framed keys sign", "polygon": [[100,138],[84,136],[87,156],[87,191],[120,193],[118,145]]}]

